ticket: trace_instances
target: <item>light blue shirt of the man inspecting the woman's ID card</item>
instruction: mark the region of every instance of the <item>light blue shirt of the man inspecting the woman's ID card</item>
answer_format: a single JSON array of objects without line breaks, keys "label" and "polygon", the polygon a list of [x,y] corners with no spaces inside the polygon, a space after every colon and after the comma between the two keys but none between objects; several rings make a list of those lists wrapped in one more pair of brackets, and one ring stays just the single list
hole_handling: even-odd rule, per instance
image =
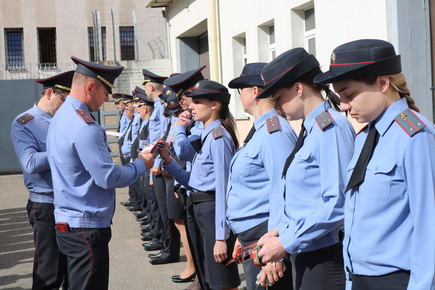
[{"label": "light blue shirt of the man inspecting the woman's ID card", "polygon": [[115,190],[126,187],[146,171],[142,160],[116,166],[107,135],[98,123],[85,123],[76,112],[88,107],[67,96],[53,117],[47,152],[54,189],[54,218],[70,227],[110,227]]}]

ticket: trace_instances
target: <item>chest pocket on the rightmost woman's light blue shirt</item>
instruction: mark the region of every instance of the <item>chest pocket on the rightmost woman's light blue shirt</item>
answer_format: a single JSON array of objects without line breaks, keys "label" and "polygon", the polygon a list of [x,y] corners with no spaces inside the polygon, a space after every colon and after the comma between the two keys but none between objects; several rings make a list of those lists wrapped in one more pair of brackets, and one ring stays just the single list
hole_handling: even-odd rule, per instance
[{"label": "chest pocket on the rightmost woman's light blue shirt", "polygon": [[364,182],[358,190],[361,197],[377,201],[388,200],[395,165],[393,160],[372,158],[365,170]]}]

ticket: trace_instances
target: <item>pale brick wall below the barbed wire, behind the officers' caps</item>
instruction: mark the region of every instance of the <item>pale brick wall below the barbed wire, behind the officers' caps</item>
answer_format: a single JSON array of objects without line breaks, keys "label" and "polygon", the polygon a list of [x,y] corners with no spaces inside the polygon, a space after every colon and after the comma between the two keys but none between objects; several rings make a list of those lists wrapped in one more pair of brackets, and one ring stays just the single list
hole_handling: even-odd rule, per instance
[{"label": "pale brick wall below the barbed wire, behind the officers' caps", "polygon": [[[156,73],[160,76],[169,77],[172,73],[172,61],[171,59],[161,59],[161,60],[122,60],[114,63],[110,62],[101,62],[105,65],[111,66],[123,66],[124,70],[120,74],[117,79],[117,87],[114,89],[114,92],[117,93],[127,93],[131,94],[131,91],[134,90],[134,87],[140,86],[142,87],[142,83],[144,81],[144,75],[142,74],[143,69],[150,70],[153,73]],[[117,111],[117,107],[115,106],[114,101],[104,102],[104,112],[109,111]],[[104,115],[104,124],[105,125],[118,125],[117,123],[117,115]],[[116,131],[116,129],[106,129],[106,131]],[[108,139],[115,139],[116,137],[107,135]],[[118,143],[109,143],[112,152],[118,153]],[[119,158],[117,156],[112,157],[114,163],[119,165]]]}]

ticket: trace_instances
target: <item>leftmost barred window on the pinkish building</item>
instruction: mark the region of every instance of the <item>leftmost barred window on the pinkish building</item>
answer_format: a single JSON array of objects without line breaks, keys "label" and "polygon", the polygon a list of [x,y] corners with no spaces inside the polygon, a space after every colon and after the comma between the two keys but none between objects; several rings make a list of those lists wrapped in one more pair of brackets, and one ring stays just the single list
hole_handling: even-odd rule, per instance
[{"label": "leftmost barred window on the pinkish building", "polygon": [[23,28],[4,29],[4,50],[6,64],[23,64]]}]

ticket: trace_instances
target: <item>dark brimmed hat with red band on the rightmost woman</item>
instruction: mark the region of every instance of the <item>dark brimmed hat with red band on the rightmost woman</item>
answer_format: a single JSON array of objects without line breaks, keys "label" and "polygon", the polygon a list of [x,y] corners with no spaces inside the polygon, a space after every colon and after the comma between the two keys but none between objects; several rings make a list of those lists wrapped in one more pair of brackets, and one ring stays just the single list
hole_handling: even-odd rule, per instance
[{"label": "dark brimmed hat with red band on the rightmost woman", "polygon": [[402,72],[400,55],[385,40],[361,39],[336,47],[332,51],[329,70],[314,78],[315,83],[336,83],[388,76]]}]

